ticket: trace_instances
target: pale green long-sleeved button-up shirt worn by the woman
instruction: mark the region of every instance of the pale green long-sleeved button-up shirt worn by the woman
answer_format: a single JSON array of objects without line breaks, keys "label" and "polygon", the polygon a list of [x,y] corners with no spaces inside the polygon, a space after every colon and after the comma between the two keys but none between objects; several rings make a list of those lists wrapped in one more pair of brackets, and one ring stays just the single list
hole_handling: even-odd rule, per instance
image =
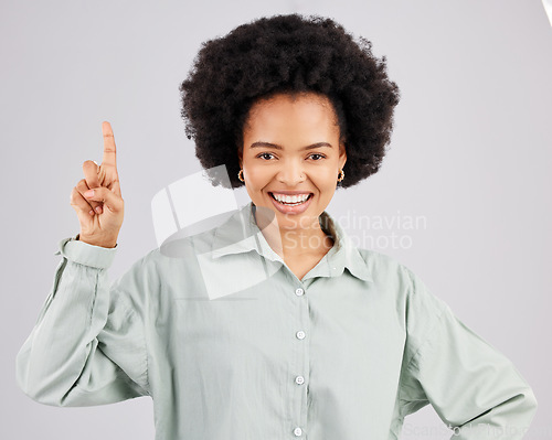
[{"label": "pale green long-sleeved button-up shirt worn by the woman", "polygon": [[454,439],[523,437],[531,388],[416,275],[325,212],[335,246],[299,280],[254,211],[151,250],[112,286],[117,247],[62,240],[21,389],[55,406],[150,396],[158,440],[397,439],[428,404]]}]

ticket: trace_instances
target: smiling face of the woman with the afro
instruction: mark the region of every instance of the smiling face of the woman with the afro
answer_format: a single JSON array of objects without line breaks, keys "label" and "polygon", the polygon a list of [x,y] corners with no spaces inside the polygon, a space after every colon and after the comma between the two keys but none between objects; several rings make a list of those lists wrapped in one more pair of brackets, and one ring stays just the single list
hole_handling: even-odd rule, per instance
[{"label": "smiling face of the woman with the afro", "polygon": [[252,202],[272,210],[280,229],[318,225],[347,160],[331,101],[316,94],[259,100],[243,135],[241,167]]}]

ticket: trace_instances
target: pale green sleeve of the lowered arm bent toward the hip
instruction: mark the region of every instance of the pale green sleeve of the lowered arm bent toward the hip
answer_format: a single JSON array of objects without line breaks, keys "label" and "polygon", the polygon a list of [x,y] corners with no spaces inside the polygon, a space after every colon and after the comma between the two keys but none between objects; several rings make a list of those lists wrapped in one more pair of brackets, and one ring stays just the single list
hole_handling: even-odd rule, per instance
[{"label": "pale green sleeve of the lowered arm bent toward the hip", "polygon": [[512,363],[474,333],[411,271],[404,415],[431,404],[455,440],[522,439],[537,399]]}]

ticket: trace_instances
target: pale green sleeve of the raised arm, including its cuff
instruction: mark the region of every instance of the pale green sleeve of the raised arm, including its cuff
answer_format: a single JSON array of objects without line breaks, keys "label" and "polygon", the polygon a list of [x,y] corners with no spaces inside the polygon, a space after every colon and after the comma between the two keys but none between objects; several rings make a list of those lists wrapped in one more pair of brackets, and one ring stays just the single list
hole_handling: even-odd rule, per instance
[{"label": "pale green sleeve of the raised arm, including its cuff", "polygon": [[148,394],[144,320],[129,299],[142,288],[140,261],[109,288],[116,250],[60,243],[52,291],[17,357],[18,384],[32,399],[89,406]]}]

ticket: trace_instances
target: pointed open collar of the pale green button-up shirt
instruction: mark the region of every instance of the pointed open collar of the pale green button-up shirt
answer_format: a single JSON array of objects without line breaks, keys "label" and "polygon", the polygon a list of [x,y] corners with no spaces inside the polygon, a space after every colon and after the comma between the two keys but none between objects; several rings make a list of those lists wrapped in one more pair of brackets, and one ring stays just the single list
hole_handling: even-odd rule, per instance
[{"label": "pointed open collar of the pale green button-up shirt", "polygon": [[[258,228],[254,212],[255,205],[250,202],[215,228],[213,259],[255,250],[272,261],[284,264]],[[326,211],[320,215],[319,222],[322,230],[333,238],[335,245],[302,280],[315,277],[339,277],[347,268],[354,277],[372,281],[367,261],[341,226]]]}]

